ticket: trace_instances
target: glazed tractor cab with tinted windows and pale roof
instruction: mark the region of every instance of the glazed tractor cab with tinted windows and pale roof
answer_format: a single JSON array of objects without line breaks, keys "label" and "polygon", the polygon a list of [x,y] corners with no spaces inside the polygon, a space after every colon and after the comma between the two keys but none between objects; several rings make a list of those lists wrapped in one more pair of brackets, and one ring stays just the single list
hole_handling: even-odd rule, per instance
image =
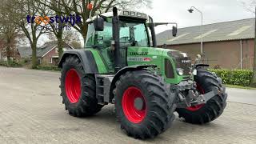
[{"label": "glazed tractor cab with tinted windows and pale roof", "polygon": [[[126,50],[129,46],[150,47],[150,35],[146,24],[148,16],[134,11],[121,11],[118,14],[118,43],[120,62],[126,66]],[[88,32],[86,48],[97,49],[107,69],[114,72],[114,30],[113,13],[106,13],[87,20]]]}]

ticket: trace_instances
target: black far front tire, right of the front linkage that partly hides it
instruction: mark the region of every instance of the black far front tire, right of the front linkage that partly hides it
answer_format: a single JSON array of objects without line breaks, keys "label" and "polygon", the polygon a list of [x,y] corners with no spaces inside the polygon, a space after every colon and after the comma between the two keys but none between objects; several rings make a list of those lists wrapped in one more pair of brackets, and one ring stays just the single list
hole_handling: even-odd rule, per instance
[{"label": "black far front tire, right of the front linkage that partly hides it", "polygon": [[179,117],[185,118],[186,122],[193,124],[203,124],[211,122],[218,118],[226,107],[227,94],[223,91],[222,82],[218,81],[216,75],[210,73],[209,71],[198,69],[198,74],[194,76],[195,82],[197,82],[198,92],[205,94],[210,92],[215,87],[222,91],[224,94],[215,95],[206,104],[198,106],[190,106],[186,109],[178,108]]}]

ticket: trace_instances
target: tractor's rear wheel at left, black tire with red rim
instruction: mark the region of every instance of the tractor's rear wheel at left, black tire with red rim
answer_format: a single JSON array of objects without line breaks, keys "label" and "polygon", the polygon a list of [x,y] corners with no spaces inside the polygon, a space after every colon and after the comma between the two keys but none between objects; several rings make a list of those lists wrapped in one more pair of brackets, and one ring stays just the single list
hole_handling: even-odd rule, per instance
[{"label": "tractor's rear wheel at left, black tire with red rim", "polygon": [[85,74],[82,62],[77,57],[69,56],[63,62],[60,81],[62,103],[70,115],[90,116],[102,109],[95,94],[94,75]]}]

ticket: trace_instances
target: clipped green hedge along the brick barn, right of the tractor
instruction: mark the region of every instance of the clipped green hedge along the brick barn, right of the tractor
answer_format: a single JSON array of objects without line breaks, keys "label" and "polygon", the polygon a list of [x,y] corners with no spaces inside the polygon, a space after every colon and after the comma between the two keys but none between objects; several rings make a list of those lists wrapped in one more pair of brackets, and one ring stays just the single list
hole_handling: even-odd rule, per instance
[{"label": "clipped green hedge along the brick barn, right of the tractor", "polygon": [[222,78],[224,84],[249,86],[253,76],[252,70],[210,70]]}]

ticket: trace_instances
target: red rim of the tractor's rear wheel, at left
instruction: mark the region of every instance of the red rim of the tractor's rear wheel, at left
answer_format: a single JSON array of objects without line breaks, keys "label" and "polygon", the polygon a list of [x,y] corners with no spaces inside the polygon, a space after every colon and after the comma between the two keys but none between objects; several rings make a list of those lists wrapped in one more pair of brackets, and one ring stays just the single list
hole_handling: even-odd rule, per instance
[{"label": "red rim of the tractor's rear wheel, at left", "polygon": [[81,95],[81,82],[77,70],[70,69],[65,78],[66,96],[71,103],[78,102]]}]

